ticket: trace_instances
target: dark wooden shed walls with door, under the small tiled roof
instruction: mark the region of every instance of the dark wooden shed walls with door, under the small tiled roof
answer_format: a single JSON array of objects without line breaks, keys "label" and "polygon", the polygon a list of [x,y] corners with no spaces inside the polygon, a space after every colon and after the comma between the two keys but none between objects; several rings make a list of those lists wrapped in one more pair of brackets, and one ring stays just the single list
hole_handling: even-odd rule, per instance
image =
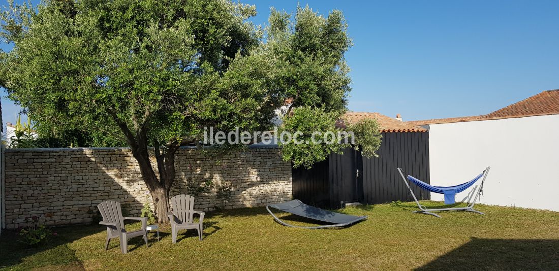
[{"label": "dark wooden shed walls with door, under the small tiled roof", "polygon": [[[429,183],[429,134],[395,132],[382,136],[378,158],[367,159],[348,148],[311,169],[292,169],[293,198],[328,208],[338,208],[341,201],[353,202],[354,198],[369,204],[413,201],[396,168]],[[361,178],[356,177],[357,169]],[[430,198],[423,189],[414,184],[411,187],[418,199]]]}]

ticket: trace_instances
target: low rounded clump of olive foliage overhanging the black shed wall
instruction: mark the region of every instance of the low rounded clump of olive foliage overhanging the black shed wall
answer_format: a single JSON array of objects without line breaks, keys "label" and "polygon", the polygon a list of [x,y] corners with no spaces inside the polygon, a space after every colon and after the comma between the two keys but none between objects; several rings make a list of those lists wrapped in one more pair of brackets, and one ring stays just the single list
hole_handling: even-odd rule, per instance
[{"label": "low rounded clump of olive foliage overhanging the black shed wall", "polygon": [[[340,112],[330,111],[326,112],[323,107],[298,107],[293,110],[293,115],[285,117],[281,129],[278,132],[291,132],[295,134],[299,131],[297,140],[304,142],[304,144],[296,144],[292,140],[289,144],[282,144],[282,156],[286,161],[293,161],[293,167],[304,166],[310,168],[312,164],[325,160],[330,153],[341,153],[341,149],[347,147],[346,144],[326,144],[324,140],[320,144],[312,140],[312,133],[315,131],[320,132],[334,132],[337,134],[339,131],[335,127],[336,121],[340,117]],[[315,139],[322,139],[322,136],[315,136]]]}]

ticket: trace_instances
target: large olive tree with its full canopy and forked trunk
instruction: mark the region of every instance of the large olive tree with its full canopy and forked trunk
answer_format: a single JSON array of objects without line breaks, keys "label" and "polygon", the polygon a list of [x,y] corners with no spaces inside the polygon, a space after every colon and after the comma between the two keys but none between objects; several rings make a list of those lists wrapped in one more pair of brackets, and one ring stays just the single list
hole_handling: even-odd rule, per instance
[{"label": "large olive tree with its full canopy and forked trunk", "polygon": [[[286,129],[304,128],[289,124],[298,110],[334,123],[347,108],[351,40],[340,11],[324,17],[298,7],[292,17],[272,9],[263,29],[247,20],[254,6],[229,0],[9,6],[0,37],[14,47],[0,52],[0,86],[40,131],[82,131],[97,145],[130,146],[160,222],[174,154],[200,146],[203,127],[266,131],[286,101]],[[319,161],[341,147],[285,146],[284,157]],[[310,165],[305,159],[296,164]]]}]

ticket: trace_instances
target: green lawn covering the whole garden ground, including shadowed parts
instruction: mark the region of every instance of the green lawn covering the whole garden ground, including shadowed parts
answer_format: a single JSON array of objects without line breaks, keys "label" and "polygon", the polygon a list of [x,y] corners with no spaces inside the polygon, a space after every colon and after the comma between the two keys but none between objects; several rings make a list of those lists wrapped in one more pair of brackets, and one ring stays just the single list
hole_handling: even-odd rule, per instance
[{"label": "green lawn covering the whole garden ground, including shadowed parts", "polygon": [[[437,206],[438,202],[424,202]],[[442,218],[411,213],[414,203],[348,207],[369,218],[345,229],[307,230],[273,221],[264,208],[209,213],[204,240],[195,231],[171,243],[150,234],[149,248],[131,239],[105,251],[99,225],[55,228],[41,249],[26,249],[15,232],[0,236],[0,268],[13,270],[559,270],[559,213],[476,206],[487,215],[445,212]],[[293,216],[282,215],[286,219]],[[304,221],[294,224],[304,225]],[[131,226],[138,226],[131,225]]]}]

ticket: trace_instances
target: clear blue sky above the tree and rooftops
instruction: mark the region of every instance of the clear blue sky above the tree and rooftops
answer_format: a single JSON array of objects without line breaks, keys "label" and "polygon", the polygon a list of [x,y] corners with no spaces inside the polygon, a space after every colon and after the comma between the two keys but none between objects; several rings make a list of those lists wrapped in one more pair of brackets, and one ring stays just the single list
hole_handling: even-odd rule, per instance
[{"label": "clear blue sky above the tree and rooftops", "polygon": [[[354,42],[349,110],[471,116],[559,88],[559,1],[242,2],[257,6],[260,25],[271,6],[343,11]],[[2,107],[4,123],[15,121],[18,108],[5,98]]]}]

